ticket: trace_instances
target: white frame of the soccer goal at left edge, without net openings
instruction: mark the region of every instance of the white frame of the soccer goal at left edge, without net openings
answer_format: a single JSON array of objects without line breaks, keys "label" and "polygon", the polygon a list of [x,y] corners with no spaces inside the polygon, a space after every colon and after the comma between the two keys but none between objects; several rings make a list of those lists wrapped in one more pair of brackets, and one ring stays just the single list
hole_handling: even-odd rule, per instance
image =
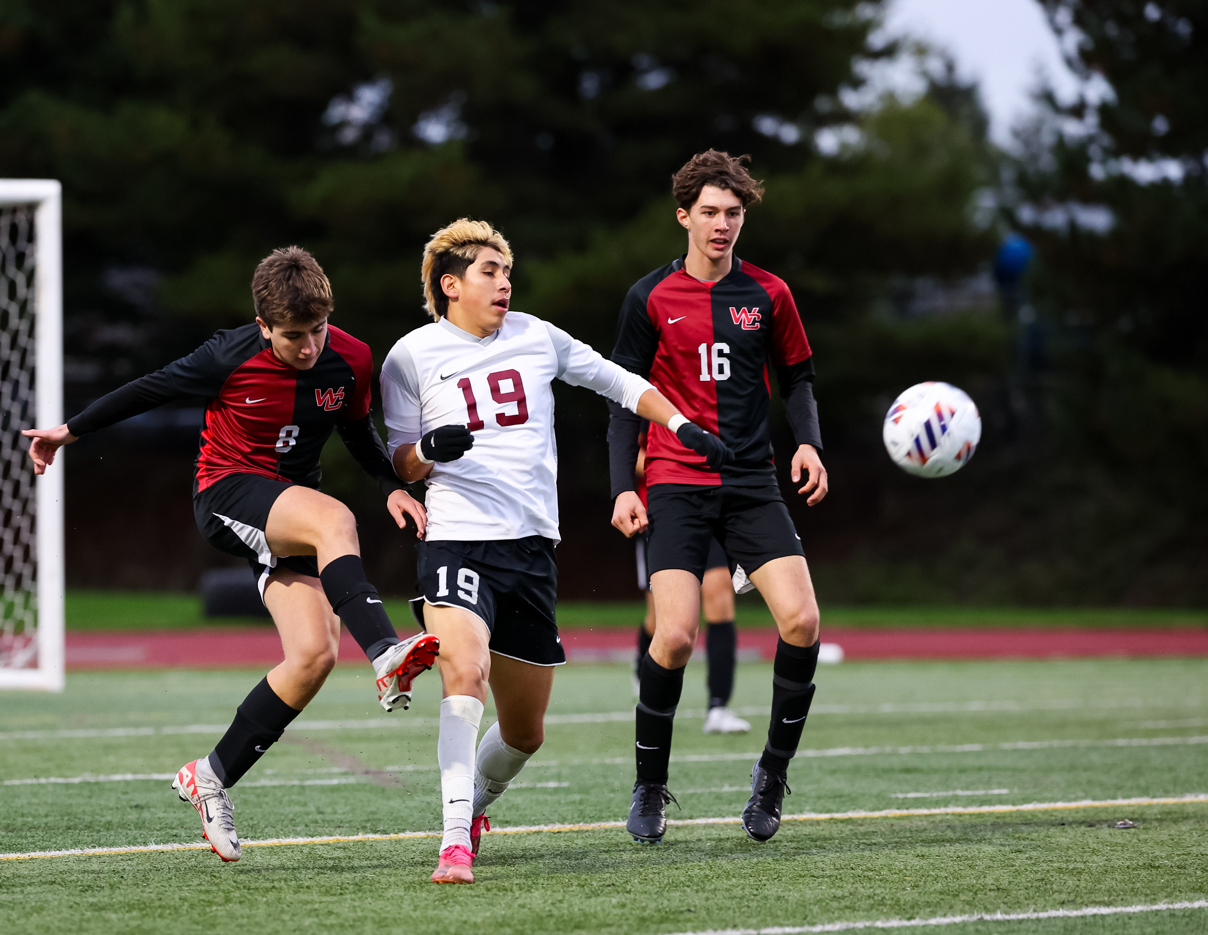
[{"label": "white frame of the soccer goal at left edge, without net openings", "polygon": [[[63,234],[62,234],[62,186],[51,179],[0,179],[0,211],[25,207],[33,211],[33,265],[34,265],[34,289],[33,295],[24,297],[28,303],[33,302],[33,336],[34,336],[34,405],[29,407],[21,422],[28,422],[33,414],[33,424],[37,428],[53,428],[63,423]],[[0,277],[6,275],[6,271],[0,268]],[[5,285],[7,289],[7,284]],[[0,295],[0,300],[8,301],[8,295]],[[17,303],[10,303],[16,308]],[[28,312],[21,312],[28,314]],[[12,320],[18,312],[10,309],[8,319]],[[12,384],[18,379],[14,373],[21,367],[28,374],[28,354],[18,353],[13,349],[12,342],[5,343],[5,356],[8,358],[0,364],[4,365],[4,378],[6,384],[5,399],[12,399]],[[21,358],[18,360],[18,358]],[[28,395],[28,390],[27,395]],[[31,428],[25,424],[16,424],[12,418],[6,419],[6,432],[12,432],[16,437],[6,439],[6,451],[18,447],[18,442],[24,440],[19,436],[19,430]],[[28,448],[22,443],[21,448]],[[30,464],[28,455],[25,463]],[[14,458],[11,470],[19,470],[19,459]],[[29,475],[33,475],[33,466],[29,466]],[[28,480],[22,478],[22,483],[28,486]],[[10,483],[8,487],[12,484]],[[10,498],[11,499],[11,498]],[[63,691],[63,663],[64,663],[64,619],[63,619],[63,588],[64,588],[64,534],[63,534],[63,452],[59,452],[54,464],[46,474],[34,482],[34,496],[31,498],[35,511],[34,548],[33,558],[36,563],[34,579],[34,594],[31,605],[35,610],[36,625],[34,634],[28,633],[28,615],[23,621],[19,637],[10,620],[0,621],[4,627],[5,640],[8,644],[6,651],[0,652],[0,689],[35,689],[43,691]],[[18,516],[19,509],[8,503],[5,505],[5,516]],[[19,506],[19,505],[18,505]],[[28,504],[24,506],[28,511]],[[18,516],[19,518],[19,516]],[[10,519],[6,518],[6,524]],[[6,548],[12,541],[12,530],[5,530]],[[11,590],[13,575],[8,574],[8,567],[13,557],[4,557],[5,567],[5,591]],[[29,581],[29,575],[23,576],[23,581]],[[19,597],[19,596],[18,596]],[[13,612],[13,596],[4,594],[4,614]],[[36,664],[31,664],[36,661]]]}]

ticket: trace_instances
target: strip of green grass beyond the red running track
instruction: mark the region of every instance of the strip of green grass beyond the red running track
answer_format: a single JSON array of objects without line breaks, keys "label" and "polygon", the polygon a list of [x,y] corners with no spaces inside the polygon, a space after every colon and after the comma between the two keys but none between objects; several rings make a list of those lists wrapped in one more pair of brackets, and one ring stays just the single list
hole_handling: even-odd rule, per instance
[{"label": "strip of green grass beyond the red running track", "polygon": [[[396,621],[411,611],[399,598],[387,599]],[[564,600],[558,622],[564,627],[635,627],[645,608],[634,602]],[[773,626],[757,594],[737,605],[741,627]],[[825,606],[824,626],[832,627],[1208,627],[1208,610],[1169,608],[976,608],[976,606]],[[187,629],[215,626],[272,626],[267,617],[207,617],[196,594],[155,591],[87,591],[66,594],[68,629]]]}]

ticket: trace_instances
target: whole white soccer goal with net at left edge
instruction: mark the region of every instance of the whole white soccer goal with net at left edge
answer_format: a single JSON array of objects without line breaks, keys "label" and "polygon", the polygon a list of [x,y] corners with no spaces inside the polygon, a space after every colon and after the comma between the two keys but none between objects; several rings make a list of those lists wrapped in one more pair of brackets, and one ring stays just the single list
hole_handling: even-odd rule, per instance
[{"label": "whole white soccer goal with net at left edge", "polygon": [[21,435],[62,423],[62,186],[0,179],[0,689],[63,691],[63,452]]}]

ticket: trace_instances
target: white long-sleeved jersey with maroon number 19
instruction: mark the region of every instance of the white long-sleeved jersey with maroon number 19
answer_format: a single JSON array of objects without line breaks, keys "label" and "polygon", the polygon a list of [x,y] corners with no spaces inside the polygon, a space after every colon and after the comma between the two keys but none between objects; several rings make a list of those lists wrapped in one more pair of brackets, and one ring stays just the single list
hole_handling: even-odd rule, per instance
[{"label": "white long-sleeved jersey with maroon number 19", "polygon": [[554,379],[637,411],[651,389],[562,329],[509,312],[484,338],[442,318],[400,338],[382,365],[391,459],[441,425],[465,425],[474,447],[428,476],[428,541],[558,535]]}]

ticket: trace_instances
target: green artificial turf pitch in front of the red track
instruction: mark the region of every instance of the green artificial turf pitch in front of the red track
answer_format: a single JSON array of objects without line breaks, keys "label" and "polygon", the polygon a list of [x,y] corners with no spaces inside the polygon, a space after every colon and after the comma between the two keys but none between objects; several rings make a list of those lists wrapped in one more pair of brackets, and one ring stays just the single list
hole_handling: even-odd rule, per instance
[{"label": "green artificial turf pitch in front of the red track", "polygon": [[[703,669],[690,666],[673,818],[739,813],[769,676],[739,666],[733,705],[751,734],[705,736]],[[211,748],[256,678],[72,674],[60,696],[0,693],[0,853],[197,841],[165,779],[13,780],[172,773]],[[844,663],[817,681],[786,813],[1208,792],[1196,739],[1208,661]],[[367,667],[337,669],[234,789],[242,837],[439,827],[437,713],[434,675],[412,710],[387,715]],[[550,714],[495,826],[622,819],[627,667],[559,670]],[[492,716],[488,705],[484,727]],[[1123,818],[1138,827],[1113,827]],[[490,835],[474,887],[428,883],[436,849],[412,838],[248,847],[231,865],[204,850],[0,861],[0,931],[669,934],[1208,898],[1208,803],[786,821],[766,844],[733,824],[673,826],[658,847],[615,829]],[[1200,933],[1208,912],[941,930]]]}]

